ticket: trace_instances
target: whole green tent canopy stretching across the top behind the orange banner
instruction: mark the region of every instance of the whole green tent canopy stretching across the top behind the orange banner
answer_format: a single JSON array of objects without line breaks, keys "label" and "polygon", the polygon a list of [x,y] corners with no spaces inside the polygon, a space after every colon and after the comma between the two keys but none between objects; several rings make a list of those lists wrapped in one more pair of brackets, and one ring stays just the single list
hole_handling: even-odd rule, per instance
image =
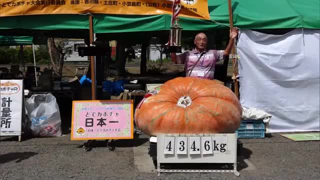
[{"label": "whole green tent canopy stretching across the top behind the orange banner", "polygon": [[[227,0],[208,0],[211,20],[180,18],[184,30],[215,30],[229,24]],[[242,29],[320,28],[320,0],[232,0],[233,24]],[[162,31],[168,14],[93,14],[95,33]],[[213,22],[212,20],[218,22]],[[31,31],[30,31],[31,30]],[[45,14],[0,17],[0,34],[86,36],[88,16]]]}]

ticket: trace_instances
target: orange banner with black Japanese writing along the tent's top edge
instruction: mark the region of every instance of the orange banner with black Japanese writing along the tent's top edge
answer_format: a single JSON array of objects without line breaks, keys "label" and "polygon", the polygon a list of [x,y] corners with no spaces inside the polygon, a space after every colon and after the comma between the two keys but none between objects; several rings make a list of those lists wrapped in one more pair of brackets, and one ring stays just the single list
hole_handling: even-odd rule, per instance
[{"label": "orange banner with black Japanese writing along the tent's top edge", "polygon": [[[0,0],[0,16],[105,13],[172,14],[173,0]],[[181,0],[180,16],[210,19],[207,0]]]}]

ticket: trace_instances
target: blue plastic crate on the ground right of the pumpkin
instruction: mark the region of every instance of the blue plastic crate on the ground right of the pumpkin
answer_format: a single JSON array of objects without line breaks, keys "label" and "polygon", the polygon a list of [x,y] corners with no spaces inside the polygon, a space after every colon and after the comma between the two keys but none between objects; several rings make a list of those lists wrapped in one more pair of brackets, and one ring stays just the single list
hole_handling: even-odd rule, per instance
[{"label": "blue plastic crate on the ground right of the pumpkin", "polygon": [[264,138],[264,122],[262,119],[241,120],[235,132],[237,138]]}]

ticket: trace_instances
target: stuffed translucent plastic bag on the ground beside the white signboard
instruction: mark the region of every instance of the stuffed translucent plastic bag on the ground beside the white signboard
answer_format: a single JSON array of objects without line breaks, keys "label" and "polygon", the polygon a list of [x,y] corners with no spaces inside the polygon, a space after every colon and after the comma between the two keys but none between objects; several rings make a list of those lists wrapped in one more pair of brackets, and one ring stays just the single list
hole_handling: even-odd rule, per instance
[{"label": "stuffed translucent plastic bag on the ground beside the white signboard", "polygon": [[51,93],[33,94],[25,103],[34,136],[61,136],[59,106]]}]

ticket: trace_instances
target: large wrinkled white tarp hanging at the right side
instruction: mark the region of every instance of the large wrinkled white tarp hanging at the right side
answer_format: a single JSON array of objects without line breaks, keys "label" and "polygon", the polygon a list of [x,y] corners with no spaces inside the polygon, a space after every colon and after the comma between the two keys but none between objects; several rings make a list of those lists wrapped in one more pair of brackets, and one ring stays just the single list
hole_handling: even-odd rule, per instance
[{"label": "large wrinkled white tarp hanging at the right side", "polygon": [[240,30],[240,103],[271,114],[270,132],[320,130],[319,33]]}]

